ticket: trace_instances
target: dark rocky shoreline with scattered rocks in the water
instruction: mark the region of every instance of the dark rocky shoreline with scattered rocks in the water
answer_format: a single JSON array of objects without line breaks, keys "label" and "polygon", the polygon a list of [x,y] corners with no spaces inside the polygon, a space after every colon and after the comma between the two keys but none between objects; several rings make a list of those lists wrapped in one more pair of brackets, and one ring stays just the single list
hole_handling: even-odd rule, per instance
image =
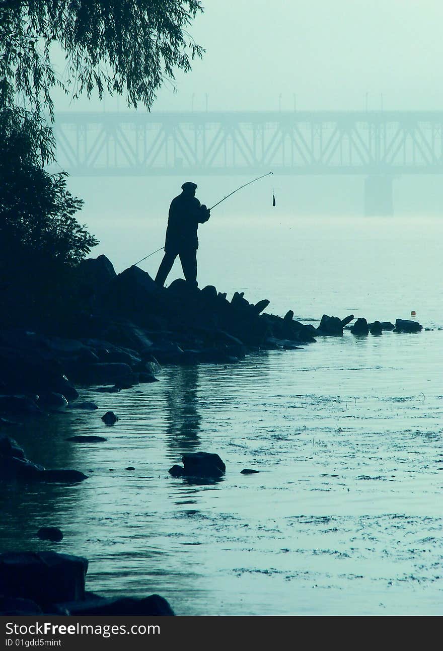
[{"label": "dark rocky shoreline with scattered rocks in the water", "polygon": [[[213,286],[200,290],[177,280],[167,289],[159,288],[136,266],[117,275],[105,256],[80,264],[76,292],[76,304],[83,308],[74,314],[66,331],[54,331],[51,324],[38,332],[26,327],[0,331],[1,481],[72,483],[87,478],[75,469],[47,469],[34,464],[14,439],[5,436],[18,419],[38,419],[66,408],[96,409],[94,403],[78,400],[76,385],[93,385],[96,391],[114,393],[158,381],[161,365],[236,363],[257,350],[298,350],[315,342],[315,337],[342,336],[343,328],[351,329],[356,336],[381,335],[384,330],[422,330],[415,321],[368,324],[358,318],[351,326],[353,315],[340,319],[326,314],[317,328],[306,326],[294,319],[292,311],[283,318],[264,312],[269,300],[252,304],[243,292],[235,292],[229,301]],[[115,420],[112,412],[103,416],[107,424]],[[81,437],[73,440],[77,438]],[[183,468],[172,467],[170,474],[185,477],[201,471],[202,476],[212,477],[225,470],[217,455],[205,452],[183,456],[183,464]],[[53,556],[46,559],[44,554]],[[146,600],[103,600],[85,593],[87,561],[72,559],[76,557],[54,552],[0,555],[1,614],[174,614],[167,602],[155,595]],[[71,562],[83,568],[79,596],[55,600],[38,592],[37,585],[46,581],[45,572],[53,571],[57,564],[70,568]],[[69,574],[70,570],[66,571]],[[17,572],[27,579],[18,581]],[[23,585],[20,594],[16,589],[19,584]]]}]

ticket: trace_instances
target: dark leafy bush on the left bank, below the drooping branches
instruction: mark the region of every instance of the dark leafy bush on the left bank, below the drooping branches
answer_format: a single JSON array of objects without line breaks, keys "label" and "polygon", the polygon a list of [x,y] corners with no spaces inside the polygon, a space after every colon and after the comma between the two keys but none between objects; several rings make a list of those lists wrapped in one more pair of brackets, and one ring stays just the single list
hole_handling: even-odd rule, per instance
[{"label": "dark leafy bush on the left bank, below the drooping branches", "polygon": [[72,270],[98,243],[75,219],[83,201],[68,191],[66,174],[42,166],[45,129],[25,111],[0,110],[3,324],[47,323],[66,312]]}]

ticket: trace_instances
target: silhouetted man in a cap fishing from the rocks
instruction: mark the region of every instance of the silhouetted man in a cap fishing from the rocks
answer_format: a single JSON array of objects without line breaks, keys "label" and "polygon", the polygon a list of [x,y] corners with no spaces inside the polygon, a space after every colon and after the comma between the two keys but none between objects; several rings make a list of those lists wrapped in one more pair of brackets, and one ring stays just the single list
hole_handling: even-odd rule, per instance
[{"label": "silhouetted man in a cap fishing from the rocks", "polygon": [[155,276],[155,283],[163,287],[174,260],[180,257],[185,279],[197,286],[198,224],[208,221],[210,212],[195,197],[196,184],[183,183],[181,195],[172,199],[166,230],[165,255]]}]

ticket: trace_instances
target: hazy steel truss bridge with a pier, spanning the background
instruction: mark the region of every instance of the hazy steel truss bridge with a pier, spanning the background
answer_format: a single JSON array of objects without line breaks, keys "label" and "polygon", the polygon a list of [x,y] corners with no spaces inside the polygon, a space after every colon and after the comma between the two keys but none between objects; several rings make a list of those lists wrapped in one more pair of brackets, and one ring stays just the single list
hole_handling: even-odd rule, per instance
[{"label": "hazy steel truss bridge with a pier, spanning the background", "polygon": [[443,111],[58,113],[55,137],[75,176],[362,174],[367,214],[395,176],[443,173]]}]

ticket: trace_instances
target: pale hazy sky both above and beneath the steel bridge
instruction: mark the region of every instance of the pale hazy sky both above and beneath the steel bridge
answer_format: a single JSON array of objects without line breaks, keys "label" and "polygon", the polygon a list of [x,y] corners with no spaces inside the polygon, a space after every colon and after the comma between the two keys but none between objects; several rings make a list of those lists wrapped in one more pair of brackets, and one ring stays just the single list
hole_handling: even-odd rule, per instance
[{"label": "pale hazy sky both above and beneath the steel bridge", "polygon": [[[440,0],[206,0],[191,27],[206,48],[193,71],[180,74],[177,92],[159,91],[154,111],[442,109],[443,3]],[[194,95],[194,99],[193,99]],[[125,110],[122,98],[100,104],[69,102],[57,95],[56,111]],[[143,109],[141,109],[143,110]],[[250,177],[192,176],[198,197],[209,205]],[[111,251],[109,223],[125,217],[159,219],[152,242],[140,243],[128,259],[161,245],[170,199],[183,180],[169,176],[78,178],[69,186],[85,199],[81,221]],[[264,180],[222,204],[217,214],[255,215],[269,208],[272,191],[278,214],[353,214],[363,212],[364,177],[280,177]],[[440,176],[403,176],[394,182],[396,214],[441,214]],[[150,222],[153,223],[153,222]],[[146,222],[148,227],[148,221]],[[157,242],[160,242],[158,244]],[[118,243],[118,251],[122,242]],[[126,247],[133,244],[128,230]],[[95,252],[97,255],[97,250]],[[111,255],[112,257],[112,255]]]}]

